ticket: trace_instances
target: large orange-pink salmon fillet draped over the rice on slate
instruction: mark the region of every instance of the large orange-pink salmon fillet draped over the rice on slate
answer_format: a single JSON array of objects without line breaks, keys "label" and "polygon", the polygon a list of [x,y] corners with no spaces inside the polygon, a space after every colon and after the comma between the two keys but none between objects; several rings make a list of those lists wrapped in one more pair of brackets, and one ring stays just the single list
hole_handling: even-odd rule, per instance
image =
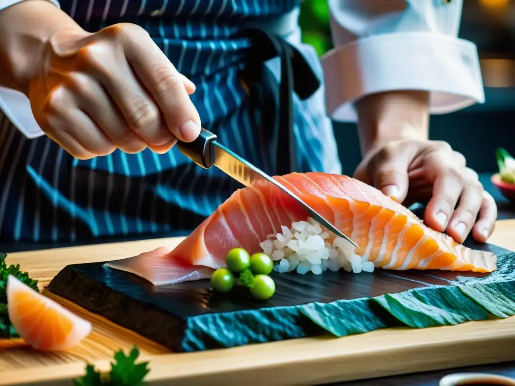
[{"label": "large orange-pink salmon fillet draped over the rice on slate", "polygon": [[[310,204],[359,246],[356,255],[376,268],[492,272],[497,257],[473,251],[424,225],[413,212],[381,191],[346,176],[291,173],[274,177]],[[127,259],[108,267],[139,275],[154,285],[210,277],[225,267],[233,248],[261,251],[268,235],[281,226],[306,220],[294,199],[267,182],[240,189],[177,247]]]}]

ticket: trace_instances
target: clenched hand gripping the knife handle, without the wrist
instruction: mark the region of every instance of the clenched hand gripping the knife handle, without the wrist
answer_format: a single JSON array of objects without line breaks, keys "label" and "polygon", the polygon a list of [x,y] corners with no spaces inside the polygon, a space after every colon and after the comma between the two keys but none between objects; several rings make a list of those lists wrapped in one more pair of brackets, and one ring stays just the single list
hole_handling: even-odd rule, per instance
[{"label": "clenched hand gripping the knife handle, without the wrist", "polygon": [[32,112],[41,129],[78,159],[116,148],[164,153],[177,139],[191,142],[200,133],[189,97],[195,85],[138,25],[59,30],[44,59],[28,83]]}]

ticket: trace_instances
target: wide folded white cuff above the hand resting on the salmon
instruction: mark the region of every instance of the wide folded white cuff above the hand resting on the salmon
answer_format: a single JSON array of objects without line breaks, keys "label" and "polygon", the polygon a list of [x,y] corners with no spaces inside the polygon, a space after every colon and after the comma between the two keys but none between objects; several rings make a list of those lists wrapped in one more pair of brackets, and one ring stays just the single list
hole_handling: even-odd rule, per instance
[{"label": "wide folded white cuff above the hand resting on the salmon", "polygon": [[444,114],[485,101],[474,43],[431,32],[361,38],[323,58],[329,115],[356,121],[353,102],[388,91],[430,92],[430,112]]}]

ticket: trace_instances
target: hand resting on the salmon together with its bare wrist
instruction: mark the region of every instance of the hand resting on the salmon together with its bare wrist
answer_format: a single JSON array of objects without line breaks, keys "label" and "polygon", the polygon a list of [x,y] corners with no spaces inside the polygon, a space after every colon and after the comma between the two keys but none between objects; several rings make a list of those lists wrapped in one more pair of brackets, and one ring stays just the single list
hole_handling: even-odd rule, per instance
[{"label": "hand resting on the salmon together with its bare wrist", "polygon": [[428,99],[400,91],[356,103],[364,159],[354,177],[406,206],[427,202],[425,223],[457,242],[470,232],[484,242],[497,219],[495,201],[463,155],[428,139]]}]

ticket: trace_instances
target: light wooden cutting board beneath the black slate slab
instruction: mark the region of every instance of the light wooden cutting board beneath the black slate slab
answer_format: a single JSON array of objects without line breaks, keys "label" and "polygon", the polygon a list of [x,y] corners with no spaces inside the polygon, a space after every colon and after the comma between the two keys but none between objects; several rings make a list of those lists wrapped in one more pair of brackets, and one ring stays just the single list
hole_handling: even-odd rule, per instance
[{"label": "light wooden cutting board beneath the black slate slab", "polygon": [[[515,220],[497,222],[489,242],[515,250]],[[12,253],[41,288],[65,266],[116,260],[166,245],[180,238],[133,241]],[[57,296],[46,292],[57,299]],[[390,328],[344,338],[319,337],[249,345],[206,352],[174,354],[63,299],[57,299],[93,324],[78,347],[42,354],[26,347],[0,352],[0,385],[72,384],[85,362],[108,370],[115,350],[136,344],[141,360],[150,361],[152,384],[322,384],[451,367],[515,360],[515,317],[425,329]],[[46,383],[48,382],[48,383]]]}]

